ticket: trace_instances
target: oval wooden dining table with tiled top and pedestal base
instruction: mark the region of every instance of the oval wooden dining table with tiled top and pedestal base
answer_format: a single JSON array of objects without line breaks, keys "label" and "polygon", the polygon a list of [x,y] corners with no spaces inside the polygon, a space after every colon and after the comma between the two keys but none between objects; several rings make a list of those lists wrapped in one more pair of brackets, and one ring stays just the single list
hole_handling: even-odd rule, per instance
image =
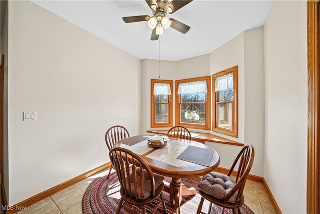
[{"label": "oval wooden dining table with tiled top and pedestal base", "polygon": [[154,135],[128,137],[119,140],[113,147],[126,148],[138,154],[153,173],[171,178],[164,191],[169,193],[175,213],[179,214],[182,195],[196,194],[196,189],[183,185],[181,178],[199,177],[211,172],[219,165],[219,155],[203,143],[167,136],[161,136],[164,145],[152,145],[152,137]]}]

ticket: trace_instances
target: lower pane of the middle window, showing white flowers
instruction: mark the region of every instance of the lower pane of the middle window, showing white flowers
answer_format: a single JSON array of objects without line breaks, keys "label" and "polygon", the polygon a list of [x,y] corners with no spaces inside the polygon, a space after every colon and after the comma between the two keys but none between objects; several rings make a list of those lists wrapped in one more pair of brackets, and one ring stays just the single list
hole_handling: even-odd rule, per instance
[{"label": "lower pane of the middle window, showing white flowers", "polygon": [[181,104],[181,123],[204,124],[205,104]]}]

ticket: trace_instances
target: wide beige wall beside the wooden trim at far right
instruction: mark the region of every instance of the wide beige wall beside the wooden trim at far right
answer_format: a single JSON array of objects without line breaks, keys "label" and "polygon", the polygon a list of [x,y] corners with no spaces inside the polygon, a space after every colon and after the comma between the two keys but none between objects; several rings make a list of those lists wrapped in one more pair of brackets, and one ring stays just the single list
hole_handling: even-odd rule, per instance
[{"label": "wide beige wall beside the wooden trim at far right", "polygon": [[274,1],[264,25],[264,174],[283,213],[306,212],[306,2]]}]

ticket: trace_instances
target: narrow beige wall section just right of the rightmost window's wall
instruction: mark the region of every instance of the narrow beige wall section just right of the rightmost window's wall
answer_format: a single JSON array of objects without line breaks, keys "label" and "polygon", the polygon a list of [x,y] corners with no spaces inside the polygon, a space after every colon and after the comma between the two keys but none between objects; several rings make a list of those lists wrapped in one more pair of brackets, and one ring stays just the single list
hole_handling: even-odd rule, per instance
[{"label": "narrow beige wall section just right of the rightmost window's wall", "polygon": [[244,43],[244,143],[254,145],[252,174],[263,177],[264,59],[263,28],[243,33]]}]

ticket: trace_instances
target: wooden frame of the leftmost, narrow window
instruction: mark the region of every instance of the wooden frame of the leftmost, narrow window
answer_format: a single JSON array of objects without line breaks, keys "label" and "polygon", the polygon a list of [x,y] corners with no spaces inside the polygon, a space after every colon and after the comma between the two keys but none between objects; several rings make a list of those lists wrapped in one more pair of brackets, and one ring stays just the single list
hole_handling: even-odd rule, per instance
[{"label": "wooden frame of the leftmost, narrow window", "polygon": [[[155,122],[155,103],[153,95],[154,83],[168,83],[170,84],[171,95],[168,95],[168,122],[156,123]],[[173,80],[155,80],[151,79],[151,128],[153,127],[171,127],[173,126]]]}]

